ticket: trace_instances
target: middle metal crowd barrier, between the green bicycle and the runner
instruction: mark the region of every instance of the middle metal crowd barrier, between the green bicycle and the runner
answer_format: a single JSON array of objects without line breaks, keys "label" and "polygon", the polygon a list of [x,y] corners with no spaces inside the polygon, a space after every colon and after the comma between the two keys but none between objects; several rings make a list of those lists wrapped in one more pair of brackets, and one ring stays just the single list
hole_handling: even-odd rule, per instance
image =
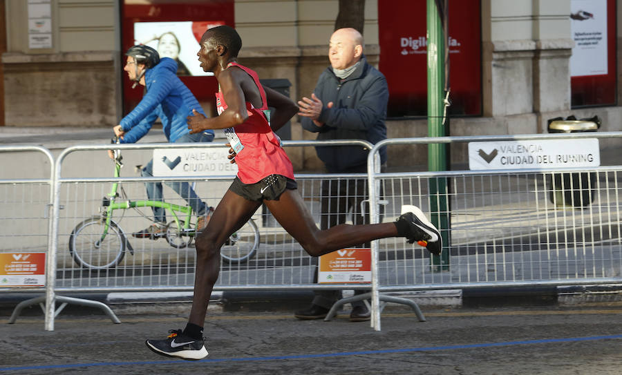
[{"label": "middle metal crowd barrier, between the green bicycle and the runner", "polygon": [[[285,147],[325,146],[327,142],[286,141]],[[364,141],[334,141],[334,146],[355,145],[371,149]],[[120,149],[124,167],[121,177],[112,175],[113,163],[106,152],[109,148]],[[66,148],[55,164],[53,229],[48,256],[48,273],[55,275],[48,280],[46,290],[48,301],[59,299],[59,294],[75,292],[111,291],[192,291],[194,287],[195,249],[194,244],[176,248],[167,239],[150,240],[133,238],[131,233],[148,227],[152,218],[151,209],[126,209],[113,217],[118,228],[126,235],[128,242],[124,258],[116,267],[85,269],[73,260],[68,243],[72,233],[83,220],[99,215],[102,198],[111,191],[111,184],[123,186],[121,201],[147,199],[145,182],[196,182],[196,192],[210,206],[216,206],[231,184],[233,175],[211,175],[209,177],[133,177],[133,164],[144,164],[154,148],[225,148],[223,142],[204,144],[121,144],[87,145]],[[147,153],[145,151],[148,151]],[[86,156],[85,156],[86,155]],[[70,163],[90,159],[93,167],[84,173],[73,173],[77,177],[62,176]],[[93,177],[85,177],[91,176]],[[301,174],[296,175],[299,192],[308,202],[312,215],[320,220],[319,186],[321,180],[335,182],[351,175]],[[357,177],[366,179],[366,174]],[[176,193],[164,186],[164,199],[173,204],[185,205]],[[171,215],[167,211],[167,220]],[[260,231],[260,244],[253,258],[244,263],[220,262],[220,276],[214,290],[268,290],[268,289],[362,289],[370,284],[317,285],[314,283],[314,262],[310,256],[276,223],[269,211],[259,209],[253,217]],[[129,251],[129,249],[132,250]],[[76,300],[69,301],[77,303]],[[93,302],[93,301],[87,301]],[[82,300],[84,304],[84,300]],[[48,304],[53,305],[53,304]],[[53,330],[53,309],[46,311],[46,329]],[[108,313],[108,311],[106,311]],[[115,316],[109,314],[113,320]]]}]

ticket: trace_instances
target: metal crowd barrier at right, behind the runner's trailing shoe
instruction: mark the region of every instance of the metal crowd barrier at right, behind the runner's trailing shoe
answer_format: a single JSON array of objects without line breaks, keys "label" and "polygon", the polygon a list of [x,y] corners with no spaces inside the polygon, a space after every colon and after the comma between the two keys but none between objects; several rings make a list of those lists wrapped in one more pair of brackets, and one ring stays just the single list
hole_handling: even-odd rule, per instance
[{"label": "metal crowd barrier at right, behind the runner's trailing shoe", "polygon": [[[373,222],[379,222],[381,203],[384,221],[400,215],[404,204],[419,206],[441,229],[446,258],[431,261],[422,247],[402,238],[374,241],[372,325],[380,329],[381,292],[621,283],[622,166],[380,173],[374,162],[383,146],[585,138],[615,142],[622,133],[404,138],[376,144],[368,162]],[[447,189],[435,191],[440,180]],[[438,209],[432,210],[435,204]],[[439,225],[443,218],[449,226]]]}]

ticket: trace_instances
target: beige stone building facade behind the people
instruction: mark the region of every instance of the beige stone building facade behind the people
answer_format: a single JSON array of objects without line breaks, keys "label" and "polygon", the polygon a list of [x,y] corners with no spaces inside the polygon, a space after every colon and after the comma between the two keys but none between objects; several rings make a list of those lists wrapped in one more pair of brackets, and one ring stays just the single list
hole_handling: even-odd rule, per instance
[{"label": "beige stone building facade behind the people", "polygon": [[[6,19],[3,30],[6,50],[1,59],[3,106],[0,106],[5,126],[84,128],[117,124],[131,109],[124,108],[124,96],[128,93],[122,72],[124,44],[129,32],[127,22],[144,21],[149,17],[162,20],[164,15],[158,13],[158,9],[167,4],[181,9],[176,15],[178,21],[195,17],[194,13],[184,15],[184,6],[214,3],[225,7],[219,8],[227,12],[222,17],[223,22],[233,23],[243,39],[241,63],[254,68],[263,79],[288,79],[292,85],[292,99],[308,96],[317,77],[328,66],[328,39],[339,10],[338,0],[0,1]],[[449,0],[450,9],[454,1]],[[618,79],[618,72],[622,71],[618,58],[621,48],[618,45],[622,32],[616,25],[622,15],[622,0],[594,1],[605,4],[609,16],[606,21],[602,17],[596,21],[606,23],[605,31],[610,31],[605,35],[612,43],[612,48],[605,52],[609,61],[606,82],[612,85],[610,99],[588,104],[579,100],[577,105],[573,92],[578,90],[575,88],[577,81],[578,86],[581,82],[589,86],[591,81],[574,77],[571,59],[577,34],[573,32],[571,15],[576,13],[577,6],[583,3],[589,6],[593,1],[473,0],[471,7],[475,7],[475,15],[480,17],[475,35],[480,46],[477,68],[481,84],[479,93],[468,95],[479,95],[475,99],[480,109],[475,115],[453,116],[449,134],[545,133],[547,119],[569,115],[599,115],[603,120],[601,131],[622,130],[622,111],[617,102],[621,89]],[[420,2],[425,4],[424,0]],[[412,7],[411,3],[406,0],[366,1],[365,54],[373,64],[380,62],[381,70],[382,59],[388,60],[383,55],[386,48],[381,48],[382,41],[391,29],[386,15],[404,14],[407,20],[413,16],[412,8],[405,11],[402,7]],[[131,13],[139,10],[140,17]],[[584,11],[588,18],[593,15],[589,10]],[[207,17],[209,12],[205,12]],[[421,12],[425,13],[425,7]],[[459,16],[450,19],[450,27]],[[469,19],[463,22],[471,24]],[[416,35],[395,35],[395,38],[408,37],[411,41],[417,39]],[[451,37],[450,29],[450,42]],[[453,39],[460,41],[459,37]],[[451,77],[468,74],[461,72],[460,66],[451,69]],[[425,78],[425,72],[417,70],[416,74]],[[595,75],[605,77],[602,72]],[[591,85],[594,90],[606,86],[599,81]],[[195,91],[196,85],[189,86]],[[206,107],[211,106],[207,97],[200,100]],[[421,113],[391,117],[387,122],[389,136],[426,136],[424,116]],[[312,138],[314,135],[303,132],[296,122],[292,123],[292,139]],[[426,164],[426,153],[418,154],[405,160],[402,150],[390,150],[389,164]],[[452,148],[453,162],[464,160],[464,155],[464,146]],[[314,151],[294,151],[293,158],[297,169],[316,169],[321,165]]]}]

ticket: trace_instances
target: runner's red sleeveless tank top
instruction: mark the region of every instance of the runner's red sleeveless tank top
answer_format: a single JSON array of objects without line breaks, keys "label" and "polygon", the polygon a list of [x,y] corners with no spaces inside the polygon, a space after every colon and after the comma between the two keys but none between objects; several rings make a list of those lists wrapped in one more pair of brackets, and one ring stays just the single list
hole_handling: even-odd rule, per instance
[{"label": "runner's red sleeveless tank top", "polygon": [[[243,124],[225,129],[227,140],[236,151],[236,164],[238,164],[238,178],[244,184],[254,184],[269,175],[283,175],[294,180],[294,167],[288,155],[279,144],[279,139],[272,132],[270,122],[266,117],[268,107],[265,99],[265,91],[259,83],[257,73],[237,63],[229,63],[229,66],[237,66],[250,75],[261,95],[261,108],[246,102],[248,118]],[[216,109],[218,115],[227,109],[225,97],[218,86],[216,93]]]}]

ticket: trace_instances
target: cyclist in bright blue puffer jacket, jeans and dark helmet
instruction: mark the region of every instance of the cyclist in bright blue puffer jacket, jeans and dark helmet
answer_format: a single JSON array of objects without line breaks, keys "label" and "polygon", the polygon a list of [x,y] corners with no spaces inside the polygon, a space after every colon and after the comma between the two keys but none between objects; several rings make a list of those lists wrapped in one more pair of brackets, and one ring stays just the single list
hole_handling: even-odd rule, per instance
[{"label": "cyclist in bright blue puffer jacket, jeans and dark helmet", "polygon": [[[144,96],[140,103],[114,127],[114,132],[121,143],[135,143],[149,132],[153,122],[160,117],[162,130],[167,140],[173,143],[211,142],[214,131],[206,130],[190,134],[186,117],[196,112],[205,115],[201,106],[190,90],[176,75],[177,63],[169,57],[160,59],[158,52],[149,46],[132,46],[127,50],[127,60],[123,70],[134,81],[132,88],[144,86]],[[153,175],[153,160],[149,160],[141,171],[143,177]],[[198,216],[196,230],[201,231],[213,210],[194,192],[187,182],[167,182],[176,193],[188,202]],[[149,200],[164,200],[162,184],[147,182]],[[147,229],[134,233],[134,237],[155,240],[166,233],[167,218],[164,209],[152,207],[154,223]]]}]

